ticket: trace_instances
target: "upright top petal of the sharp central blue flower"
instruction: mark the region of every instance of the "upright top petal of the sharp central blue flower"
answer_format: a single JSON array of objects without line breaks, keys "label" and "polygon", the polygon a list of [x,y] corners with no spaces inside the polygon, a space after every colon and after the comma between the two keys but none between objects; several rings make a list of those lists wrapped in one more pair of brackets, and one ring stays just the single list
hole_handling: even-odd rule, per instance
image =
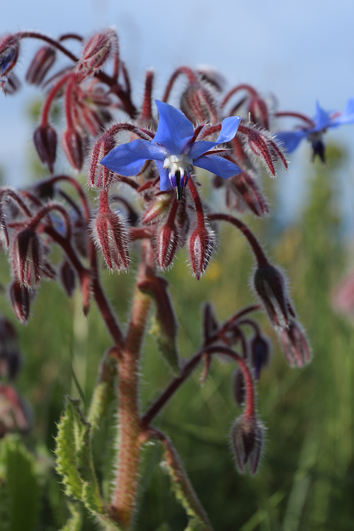
[{"label": "upright top petal of the sharp central blue flower", "polygon": [[162,101],[155,101],[159,111],[159,124],[154,142],[165,146],[171,155],[179,155],[193,138],[193,124],[179,109]]}]

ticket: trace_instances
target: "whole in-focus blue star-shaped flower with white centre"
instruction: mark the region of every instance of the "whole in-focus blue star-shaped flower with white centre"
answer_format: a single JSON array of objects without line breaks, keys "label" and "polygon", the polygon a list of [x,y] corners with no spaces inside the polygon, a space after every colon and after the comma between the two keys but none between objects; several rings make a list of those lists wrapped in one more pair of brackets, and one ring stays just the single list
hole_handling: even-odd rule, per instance
[{"label": "whole in-focus blue star-shaped flower with white centre", "polygon": [[113,172],[131,177],[140,172],[146,160],[153,160],[160,174],[160,190],[175,190],[182,198],[192,166],[209,170],[224,179],[241,172],[240,168],[211,150],[229,142],[237,132],[241,118],[230,116],[221,124],[216,142],[195,141],[194,126],[175,107],[156,100],[159,124],[153,141],[137,139],[117,145],[102,158],[101,164]]}]

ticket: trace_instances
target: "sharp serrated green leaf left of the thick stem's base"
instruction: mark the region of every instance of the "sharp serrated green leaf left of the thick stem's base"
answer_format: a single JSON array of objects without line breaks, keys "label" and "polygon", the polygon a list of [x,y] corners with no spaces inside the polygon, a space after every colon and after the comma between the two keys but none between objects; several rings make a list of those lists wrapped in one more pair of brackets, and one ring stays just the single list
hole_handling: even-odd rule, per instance
[{"label": "sharp serrated green leaf left of the thick stem's base", "polygon": [[63,477],[66,494],[83,502],[93,513],[105,513],[91,453],[91,426],[79,400],[67,399],[56,436],[56,470]]}]

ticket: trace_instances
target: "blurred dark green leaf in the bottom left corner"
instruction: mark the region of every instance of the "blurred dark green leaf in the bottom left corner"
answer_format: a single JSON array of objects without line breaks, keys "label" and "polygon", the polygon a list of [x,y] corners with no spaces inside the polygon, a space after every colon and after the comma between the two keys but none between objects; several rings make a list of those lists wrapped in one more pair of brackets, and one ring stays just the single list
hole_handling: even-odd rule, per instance
[{"label": "blurred dark green leaf in the bottom left corner", "polygon": [[7,435],[0,443],[0,463],[1,529],[32,531],[36,528],[40,509],[34,459],[18,436]]}]

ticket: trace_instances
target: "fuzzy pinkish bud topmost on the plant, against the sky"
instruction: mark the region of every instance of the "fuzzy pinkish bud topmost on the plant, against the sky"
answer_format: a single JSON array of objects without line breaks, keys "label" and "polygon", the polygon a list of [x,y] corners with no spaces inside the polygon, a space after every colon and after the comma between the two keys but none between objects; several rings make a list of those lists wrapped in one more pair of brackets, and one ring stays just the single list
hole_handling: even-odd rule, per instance
[{"label": "fuzzy pinkish bud topmost on the plant, against the sky", "polygon": [[77,64],[77,71],[83,75],[91,75],[107,61],[111,50],[118,47],[116,32],[107,29],[102,33],[96,33],[86,43],[82,56]]}]

